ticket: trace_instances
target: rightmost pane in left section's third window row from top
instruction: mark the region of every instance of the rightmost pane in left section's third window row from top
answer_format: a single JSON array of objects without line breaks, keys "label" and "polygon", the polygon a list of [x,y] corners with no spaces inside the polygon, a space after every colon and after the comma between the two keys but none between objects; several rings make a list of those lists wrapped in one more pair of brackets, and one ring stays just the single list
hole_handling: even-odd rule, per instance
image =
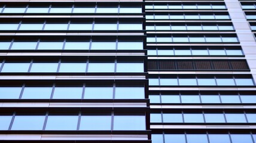
[{"label": "rightmost pane in left section's third window row from top", "polygon": [[118,42],[117,49],[143,49],[143,42]]}]

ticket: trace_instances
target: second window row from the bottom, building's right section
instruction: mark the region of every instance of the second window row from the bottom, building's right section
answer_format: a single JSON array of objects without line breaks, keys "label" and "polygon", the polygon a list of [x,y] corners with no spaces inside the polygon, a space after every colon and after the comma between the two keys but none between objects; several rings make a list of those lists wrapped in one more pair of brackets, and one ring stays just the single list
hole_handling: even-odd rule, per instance
[{"label": "second window row from the bottom, building's right section", "polygon": [[151,113],[151,123],[256,123],[255,113],[232,112],[174,112]]}]

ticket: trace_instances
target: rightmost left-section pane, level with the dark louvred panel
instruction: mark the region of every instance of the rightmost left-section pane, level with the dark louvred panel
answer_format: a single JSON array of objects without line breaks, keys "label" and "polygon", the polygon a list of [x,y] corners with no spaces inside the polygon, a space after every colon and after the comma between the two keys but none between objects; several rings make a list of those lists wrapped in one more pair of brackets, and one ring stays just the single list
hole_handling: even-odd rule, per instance
[{"label": "rightmost left-section pane, level with the dark louvred panel", "polygon": [[142,73],[144,72],[144,64],[143,63],[117,63],[117,72]]}]

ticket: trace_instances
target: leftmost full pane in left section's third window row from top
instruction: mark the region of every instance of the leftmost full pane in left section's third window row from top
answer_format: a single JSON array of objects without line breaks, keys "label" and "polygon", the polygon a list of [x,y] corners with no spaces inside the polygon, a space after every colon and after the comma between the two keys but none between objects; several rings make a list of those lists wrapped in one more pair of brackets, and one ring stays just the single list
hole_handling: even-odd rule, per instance
[{"label": "leftmost full pane in left section's third window row from top", "polygon": [[13,42],[11,49],[35,49],[37,42]]}]

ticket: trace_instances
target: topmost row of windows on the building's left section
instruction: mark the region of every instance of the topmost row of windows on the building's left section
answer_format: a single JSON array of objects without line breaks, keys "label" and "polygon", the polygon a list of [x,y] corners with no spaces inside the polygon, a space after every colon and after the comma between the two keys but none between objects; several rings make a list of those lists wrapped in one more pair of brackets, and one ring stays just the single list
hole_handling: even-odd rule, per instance
[{"label": "topmost row of windows on the building's left section", "polygon": [[[1,10],[1,9],[0,9]],[[0,13],[142,13],[141,5],[5,5]]]}]

